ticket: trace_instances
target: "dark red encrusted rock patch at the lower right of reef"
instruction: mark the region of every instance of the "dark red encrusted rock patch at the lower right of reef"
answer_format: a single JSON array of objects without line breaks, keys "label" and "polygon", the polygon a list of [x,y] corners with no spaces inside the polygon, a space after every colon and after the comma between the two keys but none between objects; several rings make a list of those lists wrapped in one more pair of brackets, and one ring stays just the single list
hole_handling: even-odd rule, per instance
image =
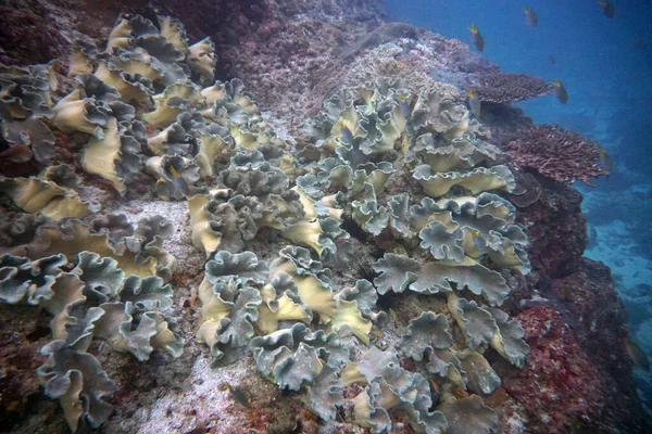
[{"label": "dark red encrusted rock patch at the lower right of reef", "polygon": [[526,368],[503,378],[503,386],[525,409],[528,432],[554,434],[597,427],[604,391],[570,329],[550,308],[527,309],[517,319],[530,354]]}]

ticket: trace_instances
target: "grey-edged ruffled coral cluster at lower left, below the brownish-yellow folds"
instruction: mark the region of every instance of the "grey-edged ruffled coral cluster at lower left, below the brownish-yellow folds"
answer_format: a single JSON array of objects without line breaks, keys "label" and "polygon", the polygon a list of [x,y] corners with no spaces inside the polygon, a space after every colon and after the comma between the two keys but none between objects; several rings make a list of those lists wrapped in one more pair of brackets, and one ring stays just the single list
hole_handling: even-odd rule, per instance
[{"label": "grey-edged ruffled coral cluster at lower left, below the brownish-yellow folds", "polygon": [[121,353],[147,360],[155,349],[177,357],[183,339],[165,315],[172,289],[160,278],[141,279],[117,268],[112,258],[82,252],[72,271],[64,255],[38,260],[0,257],[0,299],[42,307],[51,316],[52,339],[42,349],[48,360],[38,369],[46,395],[61,399],[71,431],[79,424],[99,427],[111,416],[104,396],[115,391],[97,359],[87,353],[102,340]]}]

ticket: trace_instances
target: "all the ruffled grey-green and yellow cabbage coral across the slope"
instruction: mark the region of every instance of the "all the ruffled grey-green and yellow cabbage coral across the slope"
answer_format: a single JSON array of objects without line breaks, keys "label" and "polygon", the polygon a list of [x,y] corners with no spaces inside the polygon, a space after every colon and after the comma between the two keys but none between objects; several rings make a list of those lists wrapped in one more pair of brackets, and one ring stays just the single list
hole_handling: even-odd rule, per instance
[{"label": "all the ruffled grey-green and yellow cabbage coral across the slope", "polygon": [[[112,412],[115,385],[87,352],[91,341],[138,360],[179,356],[184,342],[166,314],[172,225],[103,215],[73,167],[47,166],[46,124],[82,138],[80,167],[118,194],[146,171],[160,199],[187,202],[192,244],[206,257],[197,340],[215,369],[250,354],[265,379],[306,394],[324,423],[349,406],[348,422],[372,432],[390,430],[391,414],[415,432],[496,430],[481,397],[501,379],[485,355],[526,362],[523,328],[500,306],[505,278],[529,261],[515,207],[500,195],[514,176],[496,163],[488,132],[452,88],[422,94],[379,80],[327,100],[310,142],[294,149],[241,81],[213,81],[215,60],[211,40],[189,44],[176,20],[125,16],[103,51],[75,44],[75,89],[57,103],[49,65],[0,69],[2,140],[46,166],[0,180],[25,213],[0,257],[0,299],[51,315],[37,374],[71,430]],[[343,227],[358,227],[356,239]],[[269,231],[287,245],[262,260],[248,247]],[[381,254],[368,279],[336,277],[369,246]],[[399,336],[394,310],[377,305],[389,292],[397,309],[411,293],[428,301],[398,318],[408,329],[394,345],[383,342]],[[346,399],[347,390],[359,393]]]}]

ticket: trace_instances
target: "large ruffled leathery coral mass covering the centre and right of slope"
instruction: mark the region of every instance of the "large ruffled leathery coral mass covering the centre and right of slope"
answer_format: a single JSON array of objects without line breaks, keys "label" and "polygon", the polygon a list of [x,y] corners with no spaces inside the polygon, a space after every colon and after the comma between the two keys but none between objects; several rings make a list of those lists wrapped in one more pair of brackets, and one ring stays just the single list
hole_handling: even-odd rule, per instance
[{"label": "large ruffled leathery coral mass covering the centre and right of slope", "polygon": [[[341,92],[326,108],[312,129],[315,141],[297,155],[304,169],[292,190],[302,215],[287,215],[279,224],[289,227],[278,228],[309,248],[289,245],[271,263],[253,252],[228,252],[253,239],[255,231],[242,230],[260,224],[275,186],[291,186],[276,162],[239,152],[217,178],[227,190],[190,199],[200,204],[191,206],[196,245],[212,258],[198,289],[204,317],[198,339],[210,346],[216,367],[252,352],[265,378],[306,391],[311,409],[325,421],[344,407],[352,422],[374,432],[390,429],[397,412],[417,432],[496,430],[496,412],[478,397],[501,383],[485,354],[523,367],[529,350],[519,323],[498,308],[510,286],[497,269],[529,271],[516,209],[497,194],[514,189],[510,169],[492,166],[500,150],[485,141],[463,106],[437,94],[379,85]],[[399,193],[392,177],[411,180],[412,187],[402,187],[409,192]],[[253,221],[224,214],[236,208],[229,202],[237,193],[256,199],[247,208]],[[224,199],[214,202],[215,194]],[[324,255],[321,217],[338,228],[349,219],[371,234],[367,240],[389,237],[393,251],[413,254],[386,252],[373,265],[373,281],[342,288],[334,271],[348,257],[349,241],[334,241]],[[234,233],[229,222],[250,235],[236,244],[222,241]],[[390,291],[435,301],[409,321],[397,347],[380,350],[384,332],[374,329],[386,330],[391,312],[376,303]],[[400,356],[412,358],[417,372],[401,368]],[[354,384],[363,392],[344,398]],[[474,417],[460,422],[465,412]]]}]

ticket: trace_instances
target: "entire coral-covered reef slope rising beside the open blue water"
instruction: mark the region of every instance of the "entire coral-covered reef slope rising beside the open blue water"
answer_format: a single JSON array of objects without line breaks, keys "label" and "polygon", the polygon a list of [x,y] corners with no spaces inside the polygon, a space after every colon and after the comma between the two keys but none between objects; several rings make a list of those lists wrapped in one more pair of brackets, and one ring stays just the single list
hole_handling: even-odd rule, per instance
[{"label": "entire coral-covered reef slope rising beside the open blue water", "polygon": [[83,8],[2,18],[60,59],[0,72],[3,426],[648,431],[566,182],[600,150],[507,105],[547,82],[375,1]]}]

